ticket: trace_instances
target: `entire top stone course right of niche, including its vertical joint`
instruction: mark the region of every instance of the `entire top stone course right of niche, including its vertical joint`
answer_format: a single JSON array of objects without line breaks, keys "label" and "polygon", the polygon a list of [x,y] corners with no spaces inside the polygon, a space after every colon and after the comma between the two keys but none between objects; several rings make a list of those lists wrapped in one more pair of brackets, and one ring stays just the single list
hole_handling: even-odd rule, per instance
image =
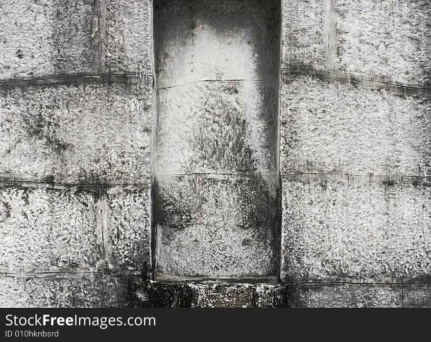
[{"label": "entire top stone course right of niche, including its vertical joint", "polygon": [[426,0],[283,0],[283,66],[431,83]]}]

